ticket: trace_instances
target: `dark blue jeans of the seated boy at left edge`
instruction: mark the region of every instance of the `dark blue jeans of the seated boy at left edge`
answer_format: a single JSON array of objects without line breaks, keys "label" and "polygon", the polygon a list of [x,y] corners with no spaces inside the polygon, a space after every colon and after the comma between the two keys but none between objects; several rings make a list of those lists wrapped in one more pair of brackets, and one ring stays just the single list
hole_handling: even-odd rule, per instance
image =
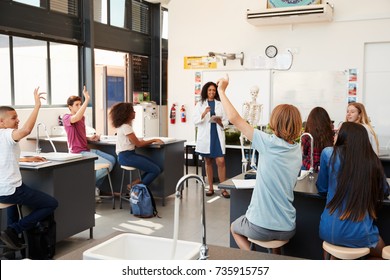
[{"label": "dark blue jeans of the seated boy at left edge", "polygon": [[13,194],[0,196],[0,202],[19,204],[31,209],[31,213],[19,220],[16,205],[7,208],[8,226],[15,229],[17,233],[33,228],[39,221],[52,214],[58,206],[54,197],[27,187],[23,183]]}]

